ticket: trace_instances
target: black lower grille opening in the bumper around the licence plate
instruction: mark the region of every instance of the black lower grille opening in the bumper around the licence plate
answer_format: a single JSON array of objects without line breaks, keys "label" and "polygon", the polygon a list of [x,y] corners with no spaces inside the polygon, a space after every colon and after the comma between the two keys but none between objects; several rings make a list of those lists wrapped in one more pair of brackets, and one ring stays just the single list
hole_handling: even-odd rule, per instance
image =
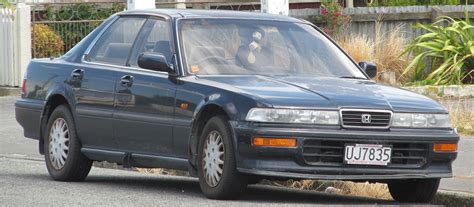
[{"label": "black lower grille opening in the bumper around the licence plate", "polygon": [[[345,144],[351,141],[325,141],[306,139],[303,142],[303,159],[309,165],[341,166]],[[381,144],[392,146],[389,168],[419,168],[427,162],[429,144],[405,142],[357,142],[357,144]],[[371,166],[380,167],[380,166]]]}]

